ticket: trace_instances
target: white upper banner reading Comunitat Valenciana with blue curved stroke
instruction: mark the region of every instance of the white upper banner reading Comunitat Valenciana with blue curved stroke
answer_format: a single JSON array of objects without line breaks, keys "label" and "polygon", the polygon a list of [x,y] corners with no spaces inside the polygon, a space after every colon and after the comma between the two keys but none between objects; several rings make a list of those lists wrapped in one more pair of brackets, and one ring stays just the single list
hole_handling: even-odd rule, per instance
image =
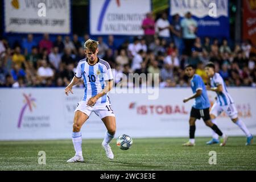
[{"label": "white upper banner reading Comunitat Valenciana with blue curved stroke", "polygon": [[90,34],[143,35],[142,20],[150,11],[150,0],[90,1]]}]

